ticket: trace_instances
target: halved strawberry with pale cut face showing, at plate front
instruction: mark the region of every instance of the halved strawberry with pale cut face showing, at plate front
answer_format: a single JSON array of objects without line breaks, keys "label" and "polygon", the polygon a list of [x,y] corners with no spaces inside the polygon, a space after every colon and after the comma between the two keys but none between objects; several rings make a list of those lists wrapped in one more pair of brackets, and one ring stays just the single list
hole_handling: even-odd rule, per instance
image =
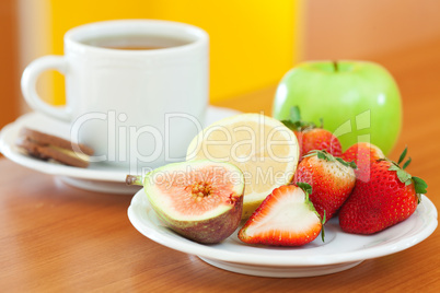
[{"label": "halved strawberry with pale cut face showing, at plate front", "polygon": [[239,231],[239,238],[247,244],[301,246],[314,241],[321,231],[322,221],[308,191],[286,185],[262,202]]}]

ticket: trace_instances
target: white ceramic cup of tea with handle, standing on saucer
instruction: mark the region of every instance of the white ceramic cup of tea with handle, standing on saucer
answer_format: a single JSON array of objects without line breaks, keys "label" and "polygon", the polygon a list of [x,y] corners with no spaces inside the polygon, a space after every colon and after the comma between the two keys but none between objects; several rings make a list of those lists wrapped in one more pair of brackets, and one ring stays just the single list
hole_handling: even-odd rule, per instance
[{"label": "white ceramic cup of tea with handle, standing on saucer", "polygon": [[[100,39],[175,39],[159,49],[114,49]],[[134,44],[136,45],[136,44]],[[183,23],[120,20],[92,23],[65,35],[65,55],[45,56],[23,72],[22,92],[35,110],[71,125],[70,138],[95,150],[91,162],[158,167],[185,159],[208,104],[209,38]],[[66,78],[66,106],[45,103],[36,81],[46,70]]]}]

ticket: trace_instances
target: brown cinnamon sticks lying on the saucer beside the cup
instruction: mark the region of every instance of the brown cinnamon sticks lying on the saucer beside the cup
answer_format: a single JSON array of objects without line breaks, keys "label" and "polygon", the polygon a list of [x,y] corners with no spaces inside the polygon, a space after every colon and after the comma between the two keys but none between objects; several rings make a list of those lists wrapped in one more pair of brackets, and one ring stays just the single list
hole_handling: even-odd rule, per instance
[{"label": "brown cinnamon sticks lying on the saucer beside the cup", "polygon": [[[20,130],[16,145],[36,159],[81,168],[89,166],[89,156],[94,153],[93,149],[88,145],[72,143],[69,140],[30,128]],[[77,150],[82,153],[76,152]]]}]

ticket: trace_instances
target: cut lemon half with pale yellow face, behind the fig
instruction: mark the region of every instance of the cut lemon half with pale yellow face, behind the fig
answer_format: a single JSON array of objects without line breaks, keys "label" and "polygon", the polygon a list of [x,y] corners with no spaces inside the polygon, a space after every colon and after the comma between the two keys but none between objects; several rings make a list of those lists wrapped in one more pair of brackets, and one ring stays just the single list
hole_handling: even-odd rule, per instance
[{"label": "cut lemon half with pale yellow face, behind the fig", "polygon": [[289,184],[299,159],[297,137],[282,122],[263,114],[219,120],[189,143],[186,160],[228,162],[244,175],[242,219],[247,219],[277,187]]}]

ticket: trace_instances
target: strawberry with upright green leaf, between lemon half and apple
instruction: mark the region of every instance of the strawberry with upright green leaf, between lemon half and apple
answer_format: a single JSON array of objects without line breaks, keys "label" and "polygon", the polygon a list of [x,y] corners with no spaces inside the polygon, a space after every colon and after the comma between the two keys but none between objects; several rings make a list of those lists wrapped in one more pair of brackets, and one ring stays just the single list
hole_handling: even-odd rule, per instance
[{"label": "strawberry with upright green leaf, between lemon half and apple", "polygon": [[328,130],[316,127],[313,122],[301,120],[300,109],[293,107],[290,113],[290,120],[282,120],[291,129],[298,139],[300,146],[300,161],[313,150],[325,150],[334,156],[341,155],[341,145],[339,140]]}]

